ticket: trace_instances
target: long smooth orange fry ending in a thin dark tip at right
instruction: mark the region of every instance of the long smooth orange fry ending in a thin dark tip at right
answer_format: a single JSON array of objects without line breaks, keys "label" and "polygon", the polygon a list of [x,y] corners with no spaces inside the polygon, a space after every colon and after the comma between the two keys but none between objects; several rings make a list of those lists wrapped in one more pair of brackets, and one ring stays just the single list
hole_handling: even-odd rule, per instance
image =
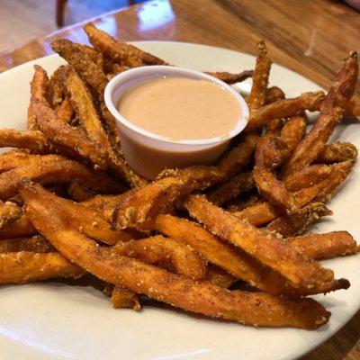
[{"label": "long smooth orange fry ending in a thin dark tip at right", "polygon": [[294,288],[284,276],[263,266],[241,249],[221,241],[192,221],[172,215],[157,216],[153,229],[193,247],[210,263],[266,293],[301,297],[314,293],[329,293],[349,286],[346,280],[340,279],[312,289]]}]

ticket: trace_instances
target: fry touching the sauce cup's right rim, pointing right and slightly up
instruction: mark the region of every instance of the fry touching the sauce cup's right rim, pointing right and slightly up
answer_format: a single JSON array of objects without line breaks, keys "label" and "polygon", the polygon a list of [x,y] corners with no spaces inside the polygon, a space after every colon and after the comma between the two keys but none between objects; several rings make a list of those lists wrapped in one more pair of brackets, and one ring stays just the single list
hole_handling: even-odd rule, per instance
[{"label": "fry touching the sauce cup's right rim, pointing right and slightly up", "polygon": [[293,99],[284,99],[262,106],[250,114],[245,130],[250,132],[260,129],[273,119],[293,116],[302,110],[317,111],[320,103],[324,100],[324,96],[325,94],[322,91],[303,93]]}]

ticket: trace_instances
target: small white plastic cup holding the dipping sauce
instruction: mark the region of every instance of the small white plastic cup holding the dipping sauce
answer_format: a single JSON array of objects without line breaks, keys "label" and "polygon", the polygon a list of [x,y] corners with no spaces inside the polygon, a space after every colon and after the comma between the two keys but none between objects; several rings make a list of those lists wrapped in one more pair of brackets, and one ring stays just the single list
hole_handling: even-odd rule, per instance
[{"label": "small white plastic cup holding the dipping sauce", "polygon": [[[229,90],[238,101],[240,116],[228,134],[211,139],[168,139],[139,128],[117,110],[121,96],[133,86],[159,77],[187,77],[210,81]],[[114,76],[105,88],[104,101],[117,120],[123,155],[139,175],[154,179],[166,168],[211,164],[227,148],[229,140],[247,126],[248,108],[244,98],[231,86],[199,71],[169,66],[135,67]]]}]

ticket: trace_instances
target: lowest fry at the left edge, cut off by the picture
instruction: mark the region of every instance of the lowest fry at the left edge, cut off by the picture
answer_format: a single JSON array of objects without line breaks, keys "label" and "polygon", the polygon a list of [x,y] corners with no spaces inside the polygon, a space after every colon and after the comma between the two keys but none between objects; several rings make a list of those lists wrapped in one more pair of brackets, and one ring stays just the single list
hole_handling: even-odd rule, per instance
[{"label": "lowest fry at the left edge, cut off by the picture", "polygon": [[54,253],[0,253],[0,284],[25,284],[56,277],[79,277],[85,271]]}]

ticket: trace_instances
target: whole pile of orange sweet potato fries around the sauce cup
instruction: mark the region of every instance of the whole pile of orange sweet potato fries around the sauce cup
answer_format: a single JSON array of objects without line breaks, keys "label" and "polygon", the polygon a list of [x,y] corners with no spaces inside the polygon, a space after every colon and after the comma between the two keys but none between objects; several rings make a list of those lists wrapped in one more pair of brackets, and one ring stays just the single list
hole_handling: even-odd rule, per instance
[{"label": "whole pile of orange sweet potato fries around the sauce cup", "polygon": [[356,52],[328,94],[288,99],[268,85],[260,41],[254,70],[211,73],[229,84],[253,77],[243,134],[214,164],[150,183],[122,157],[103,90],[128,68],[168,63],[91,23],[84,30],[92,47],[51,44],[67,66],[52,76],[35,67],[27,130],[0,130],[0,147],[14,148],[0,155],[0,284],[90,273],[115,309],[139,311],[146,295],[251,326],[325,324],[329,311],[310,295],[350,284],[318,260],[359,246],[343,229],[305,232],[332,214],[325,202],[356,163],[351,143],[327,144],[343,116],[358,114]]}]

